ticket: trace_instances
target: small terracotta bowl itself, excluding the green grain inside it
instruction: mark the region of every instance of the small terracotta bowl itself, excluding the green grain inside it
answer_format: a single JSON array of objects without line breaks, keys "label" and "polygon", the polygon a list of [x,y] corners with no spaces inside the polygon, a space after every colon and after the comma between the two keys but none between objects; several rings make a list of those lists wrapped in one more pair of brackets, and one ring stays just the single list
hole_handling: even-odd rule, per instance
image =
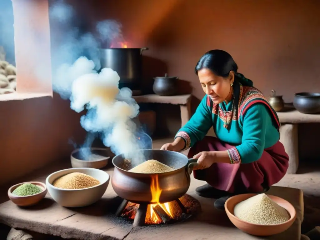
[{"label": "small terracotta bowl itself, excluding the green grain inside it", "polygon": [[[17,196],[17,195],[12,194],[14,189],[18,188],[20,185],[22,185],[24,183],[32,183],[34,185],[37,185],[40,188],[42,188],[43,191],[40,193],[34,194],[34,195],[29,195],[29,196]],[[26,207],[26,206],[35,205],[38,202],[40,202],[40,200],[42,200],[44,198],[44,196],[47,194],[47,191],[48,191],[47,187],[42,182],[21,182],[16,185],[13,185],[11,188],[9,188],[8,196],[14,204],[21,206],[21,207]]]}]

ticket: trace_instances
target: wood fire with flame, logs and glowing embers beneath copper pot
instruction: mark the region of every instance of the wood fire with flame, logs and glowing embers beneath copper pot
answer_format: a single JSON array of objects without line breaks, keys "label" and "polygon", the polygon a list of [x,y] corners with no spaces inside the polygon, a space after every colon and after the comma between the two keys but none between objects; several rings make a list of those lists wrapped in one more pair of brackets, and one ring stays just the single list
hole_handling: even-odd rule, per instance
[{"label": "wood fire with flame, logs and glowing embers beneath copper pot", "polygon": [[[156,204],[148,204],[145,225],[169,224],[186,220],[201,210],[199,201],[187,194],[172,202],[159,203],[162,189],[159,187],[158,175],[152,177],[150,191],[151,202]],[[140,204],[128,202],[120,216],[127,220],[134,220],[139,207]]]}]

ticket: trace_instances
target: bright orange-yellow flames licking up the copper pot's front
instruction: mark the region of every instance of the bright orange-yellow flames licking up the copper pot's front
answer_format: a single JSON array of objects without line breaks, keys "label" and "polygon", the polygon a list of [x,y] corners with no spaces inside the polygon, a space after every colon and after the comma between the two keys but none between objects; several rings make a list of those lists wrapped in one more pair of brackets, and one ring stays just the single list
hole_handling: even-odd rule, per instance
[{"label": "bright orange-yellow flames licking up the copper pot's front", "polygon": [[159,223],[161,222],[161,219],[158,218],[157,214],[153,210],[153,208],[156,207],[157,205],[159,205],[164,210],[164,212],[166,212],[171,218],[173,218],[173,215],[172,215],[170,203],[164,203],[164,204],[159,203],[162,189],[159,186],[158,175],[151,175],[151,178],[152,178],[151,186],[150,186],[151,195],[152,195],[151,201],[156,202],[156,204],[149,204],[150,216],[151,216],[151,220],[154,223]]}]

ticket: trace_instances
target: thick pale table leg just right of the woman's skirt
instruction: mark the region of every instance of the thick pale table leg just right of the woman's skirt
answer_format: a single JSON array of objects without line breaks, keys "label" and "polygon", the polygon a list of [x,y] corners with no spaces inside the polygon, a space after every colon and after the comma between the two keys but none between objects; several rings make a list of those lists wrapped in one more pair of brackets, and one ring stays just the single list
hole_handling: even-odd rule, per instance
[{"label": "thick pale table leg just right of the woman's skirt", "polygon": [[280,127],[280,142],[289,155],[287,173],[295,174],[299,166],[298,124],[284,124]]}]

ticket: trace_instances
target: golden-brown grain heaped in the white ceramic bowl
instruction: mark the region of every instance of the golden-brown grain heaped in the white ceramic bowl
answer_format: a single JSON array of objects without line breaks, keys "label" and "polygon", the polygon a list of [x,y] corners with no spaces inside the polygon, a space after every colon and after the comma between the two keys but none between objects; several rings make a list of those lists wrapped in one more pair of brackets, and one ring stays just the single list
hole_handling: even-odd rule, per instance
[{"label": "golden-brown grain heaped in the white ceramic bowl", "polygon": [[81,172],[72,172],[53,181],[52,185],[63,189],[90,188],[100,184],[100,181]]}]

